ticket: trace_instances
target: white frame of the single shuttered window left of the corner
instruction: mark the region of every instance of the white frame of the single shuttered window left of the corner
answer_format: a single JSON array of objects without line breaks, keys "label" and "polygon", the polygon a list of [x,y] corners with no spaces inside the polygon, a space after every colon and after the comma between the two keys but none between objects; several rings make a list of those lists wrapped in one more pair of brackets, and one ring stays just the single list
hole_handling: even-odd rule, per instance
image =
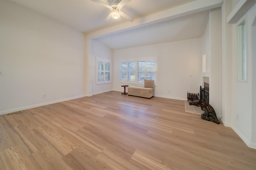
[{"label": "white frame of the single shuttered window left of the corner", "polygon": [[[98,70],[98,62],[103,62],[103,70]],[[106,70],[106,63],[109,63],[110,64],[110,68],[109,70]],[[102,58],[99,58],[99,57],[96,57],[96,84],[107,84],[107,83],[111,83],[111,80],[112,80],[112,72],[111,72],[111,60],[110,59],[102,59]],[[103,72],[103,81],[99,81],[98,80],[98,72]],[[110,80],[106,80],[106,72],[109,72],[109,75],[110,75]]]}]

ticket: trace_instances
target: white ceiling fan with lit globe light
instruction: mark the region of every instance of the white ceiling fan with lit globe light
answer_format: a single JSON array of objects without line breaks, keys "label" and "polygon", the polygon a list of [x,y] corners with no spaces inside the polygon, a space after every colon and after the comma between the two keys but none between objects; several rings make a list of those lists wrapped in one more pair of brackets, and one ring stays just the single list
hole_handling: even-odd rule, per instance
[{"label": "white ceiling fan with lit globe light", "polygon": [[134,20],[132,17],[128,16],[127,14],[125,14],[124,12],[121,11],[121,8],[123,8],[131,0],[122,0],[119,3],[118,3],[118,0],[113,0],[113,2],[110,5],[105,4],[104,2],[102,2],[100,0],[92,0],[92,1],[96,2],[98,4],[101,4],[102,6],[105,6],[111,10],[110,14],[107,16],[105,21],[110,20],[111,17],[116,20],[120,16],[124,17],[126,20],[129,20],[131,22]]}]

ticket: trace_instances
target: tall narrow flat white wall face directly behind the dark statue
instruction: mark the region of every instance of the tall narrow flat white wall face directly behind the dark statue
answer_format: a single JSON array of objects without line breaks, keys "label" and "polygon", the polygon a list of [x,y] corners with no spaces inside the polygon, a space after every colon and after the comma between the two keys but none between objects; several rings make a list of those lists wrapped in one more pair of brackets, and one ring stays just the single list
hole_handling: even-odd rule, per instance
[{"label": "tall narrow flat white wall face directly behind the dark statue", "polygon": [[222,116],[222,20],[221,8],[210,10],[210,79],[209,102],[218,117]]}]

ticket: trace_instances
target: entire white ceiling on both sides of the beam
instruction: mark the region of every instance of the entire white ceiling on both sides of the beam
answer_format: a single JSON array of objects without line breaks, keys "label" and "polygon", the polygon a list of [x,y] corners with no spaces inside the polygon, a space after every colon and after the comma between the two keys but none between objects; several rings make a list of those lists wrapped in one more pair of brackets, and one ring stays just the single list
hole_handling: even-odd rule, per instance
[{"label": "entire white ceiling on both sides of the beam", "polygon": [[[52,20],[68,25],[83,33],[111,28],[130,21],[120,17],[118,20],[104,21],[110,9],[91,0],[8,0]],[[111,4],[112,0],[101,0]],[[119,2],[121,0],[118,0]],[[145,18],[171,8],[199,0],[131,0],[121,10],[132,18]],[[202,0],[201,0],[202,1]],[[218,1],[218,0],[204,0]],[[216,7],[216,6],[215,6]],[[98,41],[113,49],[134,47],[202,37],[208,22],[208,11],[182,16],[167,21],[137,27],[128,31],[100,36]],[[112,38],[111,38],[112,37]]]}]

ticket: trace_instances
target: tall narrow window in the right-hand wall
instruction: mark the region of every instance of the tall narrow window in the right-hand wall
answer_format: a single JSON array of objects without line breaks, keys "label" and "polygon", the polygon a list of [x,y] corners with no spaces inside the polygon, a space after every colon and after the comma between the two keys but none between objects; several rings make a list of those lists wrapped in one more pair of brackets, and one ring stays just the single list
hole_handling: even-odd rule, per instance
[{"label": "tall narrow window in the right-hand wall", "polygon": [[246,80],[246,19],[237,29],[237,80]]}]

